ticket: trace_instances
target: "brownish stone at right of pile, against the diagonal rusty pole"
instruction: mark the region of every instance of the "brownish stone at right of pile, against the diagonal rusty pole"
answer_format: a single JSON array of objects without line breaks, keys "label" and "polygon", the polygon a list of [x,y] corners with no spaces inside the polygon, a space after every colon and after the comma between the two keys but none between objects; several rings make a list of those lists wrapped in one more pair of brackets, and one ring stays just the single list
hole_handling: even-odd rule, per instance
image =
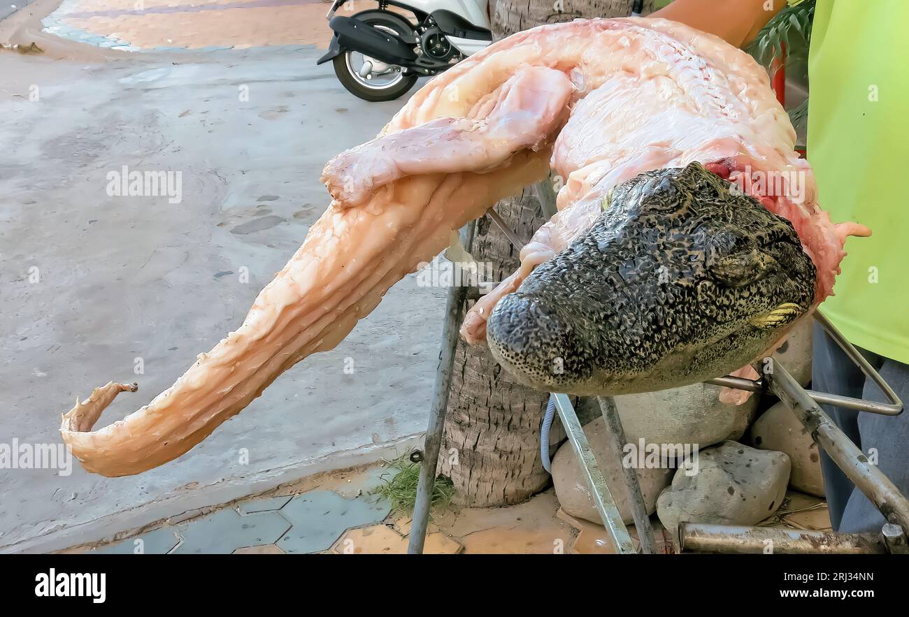
[{"label": "brownish stone at right of pile, against the diagonal rusty pole", "polygon": [[754,422],[751,443],[762,450],[786,453],[793,465],[789,485],[802,493],[824,496],[824,476],[817,443],[784,403],[776,403]]}]

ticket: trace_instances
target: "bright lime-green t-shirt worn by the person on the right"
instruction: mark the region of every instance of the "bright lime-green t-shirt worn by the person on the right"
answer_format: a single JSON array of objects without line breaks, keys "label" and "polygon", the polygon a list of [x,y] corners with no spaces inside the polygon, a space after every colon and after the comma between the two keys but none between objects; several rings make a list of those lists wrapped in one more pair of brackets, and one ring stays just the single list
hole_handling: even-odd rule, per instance
[{"label": "bright lime-green t-shirt worn by the person on the right", "polygon": [[909,0],[817,0],[808,161],[852,237],[822,312],[850,342],[909,363]]}]

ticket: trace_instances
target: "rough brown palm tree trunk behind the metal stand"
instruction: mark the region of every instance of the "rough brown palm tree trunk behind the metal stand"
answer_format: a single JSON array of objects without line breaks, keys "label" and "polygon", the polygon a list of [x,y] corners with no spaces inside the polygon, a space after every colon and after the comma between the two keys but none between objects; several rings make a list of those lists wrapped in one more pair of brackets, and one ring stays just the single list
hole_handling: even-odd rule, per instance
[{"label": "rough brown palm tree trunk behind the metal stand", "polygon": [[[491,0],[494,1],[494,0]],[[542,24],[577,18],[630,15],[632,0],[499,0],[492,29],[496,40]],[[644,14],[653,0],[645,0]],[[496,211],[523,242],[554,210],[551,184],[527,187],[518,197],[496,204]],[[552,200],[544,204],[541,200]],[[512,274],[520,250],[488,217],[477,222],[474,259],[492,264],[496,281]],[[469,306],[473,304],[468,302]],[[465,506],[520,503],[550,483],[540,460],[540,425],[549,393],[514,383],[484,345],[457,343],[439,472],[454,482],[454,501]],[[564,439],[554,423],[551,443]],[[551,453],[554,453],[554,448]]]}]

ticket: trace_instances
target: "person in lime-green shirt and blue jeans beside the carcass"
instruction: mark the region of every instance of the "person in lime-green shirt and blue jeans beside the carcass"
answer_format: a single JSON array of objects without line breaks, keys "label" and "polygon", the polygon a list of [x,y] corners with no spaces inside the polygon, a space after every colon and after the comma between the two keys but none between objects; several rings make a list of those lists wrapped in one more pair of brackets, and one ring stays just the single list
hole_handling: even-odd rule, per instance
[{"label": "person in lime-green shirt and blue jeans beside the carcass", "polygon": [[[785,0],[674,0],[652,14],[743,46]],[[873,236],[846,244],[835,295],[820,311],[909,400],[909,205],[902,186],[909,161],[907,0],[816,0],[808,56],[807,158],[820,203],[835,222],[868,226]],[[815,390],[884,402],[883,393],[824,331],[814,330]],[[824,405],[869,459],[909,493],[909,413],[884,416]],[[834,530],[879,532],[884,517],[822,455]]]}]

